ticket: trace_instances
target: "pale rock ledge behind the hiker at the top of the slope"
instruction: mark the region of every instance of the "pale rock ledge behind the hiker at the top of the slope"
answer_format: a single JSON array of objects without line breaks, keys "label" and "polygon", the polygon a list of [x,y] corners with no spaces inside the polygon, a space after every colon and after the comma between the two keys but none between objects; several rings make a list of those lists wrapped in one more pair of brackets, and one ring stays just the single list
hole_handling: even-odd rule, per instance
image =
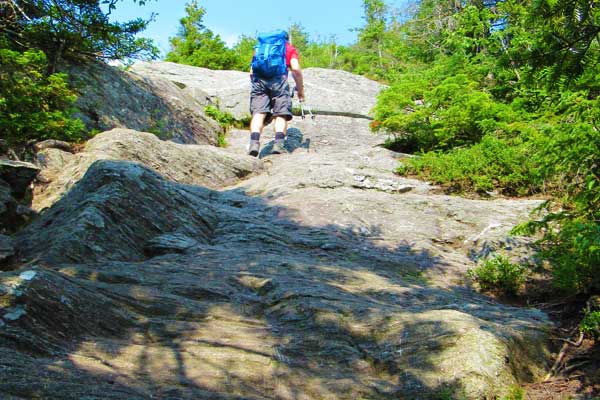
[{"label": "pale rock ledge behind the hiker at the top of the slope", "polygon": [[[146,79],[167,79],[202,104],[218,105],[240,119],[250,111],[250,76],[240,71],[213,71],[169,62],[138,62],[132,72]],[[377,82],[349,72],[303,70],[307,104],[319,114],[369,118],[379,91]],[[290,74],[290,86],[294,80]]]}]

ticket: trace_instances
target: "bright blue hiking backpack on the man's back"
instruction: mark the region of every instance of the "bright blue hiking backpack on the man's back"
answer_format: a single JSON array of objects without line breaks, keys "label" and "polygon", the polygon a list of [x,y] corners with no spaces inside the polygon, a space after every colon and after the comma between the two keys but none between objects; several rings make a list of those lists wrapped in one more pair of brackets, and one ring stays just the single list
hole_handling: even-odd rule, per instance
[{"label": "bright blue hiking backpack on the man's back", "polygon": [[252,73],[259,78],[269,79],[287,74],[285,45],[287,32],[277,30],[258,35],[258,44],[254,46]]}]

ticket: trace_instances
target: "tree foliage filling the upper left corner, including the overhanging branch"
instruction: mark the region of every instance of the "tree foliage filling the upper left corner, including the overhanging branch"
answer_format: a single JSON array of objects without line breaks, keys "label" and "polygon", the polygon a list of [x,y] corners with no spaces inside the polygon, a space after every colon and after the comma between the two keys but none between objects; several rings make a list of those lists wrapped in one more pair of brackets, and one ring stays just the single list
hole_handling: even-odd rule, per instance
[{"label": "tree foliage filling the upper left corner, including the overhanging branch", "polygon": [[149,21],[109,20],[119,2],[0,0],[0,131],[10,146],[84,137],[75,93],[57,73],[62,61],[157,56],[152,41],[136,37]]}]

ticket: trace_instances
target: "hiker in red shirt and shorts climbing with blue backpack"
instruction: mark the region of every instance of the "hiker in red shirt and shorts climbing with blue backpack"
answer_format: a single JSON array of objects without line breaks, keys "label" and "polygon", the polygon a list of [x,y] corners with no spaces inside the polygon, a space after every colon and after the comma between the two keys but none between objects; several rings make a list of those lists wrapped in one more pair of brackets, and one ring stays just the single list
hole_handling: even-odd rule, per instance
[{"label": "hiker in red shirt and shorts climbing with blue backpack", "polygon": [[304,101],[304,83],[298,51],[289,42],[288,33],[277,30],[258,36],[250,70],[250,146],[248,154],[257,157],[260,135],[265,125],[275,119],[275,142],[272,154],[283,153],[287,123],[292,119],[292,95],[288,69],[296,81],[298,98]]}]

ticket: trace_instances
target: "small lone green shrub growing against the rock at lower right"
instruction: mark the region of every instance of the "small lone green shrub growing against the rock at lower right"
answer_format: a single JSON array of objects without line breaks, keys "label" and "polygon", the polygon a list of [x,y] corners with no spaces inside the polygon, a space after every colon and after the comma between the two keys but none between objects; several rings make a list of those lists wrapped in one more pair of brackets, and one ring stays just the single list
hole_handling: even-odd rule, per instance
[{"label": "small lone green shrub growing against the rock at lower right", "polygon": [[483,290],[497,289],[516,294],[525,282],[526,273],[526,267],[511,263],[508,257],[497,255],[467,271],[467,276],[479,283]]}]

